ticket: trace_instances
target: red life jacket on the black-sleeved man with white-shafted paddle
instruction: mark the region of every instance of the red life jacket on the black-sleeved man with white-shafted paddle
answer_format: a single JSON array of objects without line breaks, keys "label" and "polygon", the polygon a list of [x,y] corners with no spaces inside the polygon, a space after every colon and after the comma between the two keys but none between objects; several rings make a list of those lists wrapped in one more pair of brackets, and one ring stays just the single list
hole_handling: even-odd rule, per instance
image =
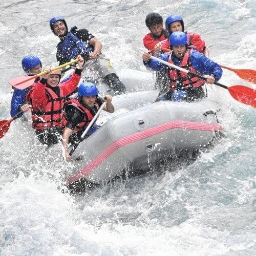
[{"label": "red life jacket on the black-sleeved man with white-shafted paddle", "polygon": [[[85,106],[83,106],[78,99],[70,99],[69,101],[67,101],[65,103],[66,106],[68,105],[72,105],[74,106],[76,109],[78,109],[80,112],[82,112],[83,115],[83,120],[78,123],[75,127],[75,131],[76,132],[80,132],[81,130],[84,130],[88,124],[92,121],[94,115],[97,113],[97,111],[99,110],[99,105],[97,102],[95,102],[94,106],[93,106],[93,111],[95,112],[95,114],[93,115],[89,109],[87,109]],[[97,119],[96,119],[97,120]],[[95,120],[95,122],[96,122]],[[65,125],[67,124],[67,120],[65,118]]]}]

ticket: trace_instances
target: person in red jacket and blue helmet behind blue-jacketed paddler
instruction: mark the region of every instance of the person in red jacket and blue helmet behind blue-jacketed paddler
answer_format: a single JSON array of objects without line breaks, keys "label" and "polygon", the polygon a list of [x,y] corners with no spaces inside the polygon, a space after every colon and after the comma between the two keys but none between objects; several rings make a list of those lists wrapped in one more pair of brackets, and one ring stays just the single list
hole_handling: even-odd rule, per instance
[{"label": "person in red jacket and blue helmet behind blue-jacketed paddler", "polygon": [[[170,15],[165,20],[165,28],[168,31],[169,35],[174,32],[182,31],[187,35],[187,45],[189,48],[194,48],[195,50],[203,53],[206,57],[209,56],[209,50],[205,45],[205,41],[201,36],[195,32],[184,31],[184,22],[181,16]],[[169,39],[163,40],[157,44],[159,49],[166,51],[169,49]]]}]

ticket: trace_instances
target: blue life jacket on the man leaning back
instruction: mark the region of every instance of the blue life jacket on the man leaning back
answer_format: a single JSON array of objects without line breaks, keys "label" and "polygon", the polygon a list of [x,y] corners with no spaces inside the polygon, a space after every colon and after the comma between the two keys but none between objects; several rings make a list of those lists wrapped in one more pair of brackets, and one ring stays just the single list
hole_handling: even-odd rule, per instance
[{"label": "blue life jacket on the man leaning back", "polygon": [[65,39],[57,45],[57,55],[65,61],[75,59],[79,54],[82,57],[87,57],[87,54],[93,51],[93,47],[88,42],[82,41],[71,32],[73,28],[71,28]]}]

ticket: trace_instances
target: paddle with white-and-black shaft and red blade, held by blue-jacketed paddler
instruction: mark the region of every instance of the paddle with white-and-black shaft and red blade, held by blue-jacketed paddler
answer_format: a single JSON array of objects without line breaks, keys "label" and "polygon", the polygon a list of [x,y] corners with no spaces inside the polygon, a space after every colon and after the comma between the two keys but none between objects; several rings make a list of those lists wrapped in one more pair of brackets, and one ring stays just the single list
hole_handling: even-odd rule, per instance
[{"label": "paddle with white-and-black shaft and red blade, held by blue-jacketed paddler", "polygon": [[[176,65],[174,65],[172,63],[169,63],[167,61],[164,61],[162,59],[156,58],[154,56],[151,56],[150,58],[154,59],[154,60],[156,60],[156,61],[158,61],[160,63],[163,63],[166,66],[172,67],[174,69],[178,69],[178,70],[180,70],[180,71],[182,71],[182,72],[184,72],[186,74],[190,74],[190,75],[196,76],[196,77],[198,77],[200,79],[203,79],[205,81],[207,80],[207,78],[205,78],[205,77],[203,77],[203,76],[201,76],[199,74],[190,72],[189,70],[183,69],[183,68],[181,68],[179,66],[176,66]],[[224,84],[221,84],[219,82],[215,82],[214,84],[216,84],[216,86],[219,86],[219,87],[222,87],[224,89],[227,89],[229,91],[230,95],[234,99],[236,99],[236,100],[238,100],[238,101],[240,101],[240,102],[242,102],[244,104],[251,105],[254,108],[256,108],[256,90],[253,90],[253,89],[251,89],[249,87],[246,87],[246,86],[240,86],[240,85],[227,87]]]}]

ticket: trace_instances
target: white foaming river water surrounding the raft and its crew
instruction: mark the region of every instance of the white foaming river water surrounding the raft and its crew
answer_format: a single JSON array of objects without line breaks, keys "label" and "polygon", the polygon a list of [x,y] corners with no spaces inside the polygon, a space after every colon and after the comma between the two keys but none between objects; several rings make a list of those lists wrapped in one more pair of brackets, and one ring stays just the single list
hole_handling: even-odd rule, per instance
[{"label": "white foaming river water surrounding the raft and its crew", "polygon": [[[144,19],[180,14],[206,41],[210,57],[255,69],[256,5],[252,0],[63,0],[0,4],[0,117],[8,119],[20,65],[36,54],[55,65],[54,15],[87,28],[116,69],[144,71]],[[253,84],[224,71],[221,82]],[[0,140],[1,255],[255,255],[255,110],[211,86],[221,103],[225,137],[193,164],[98,187],[82,196],[61,193],[73,163],[60,146],[47,150],[21,120]]]}]

